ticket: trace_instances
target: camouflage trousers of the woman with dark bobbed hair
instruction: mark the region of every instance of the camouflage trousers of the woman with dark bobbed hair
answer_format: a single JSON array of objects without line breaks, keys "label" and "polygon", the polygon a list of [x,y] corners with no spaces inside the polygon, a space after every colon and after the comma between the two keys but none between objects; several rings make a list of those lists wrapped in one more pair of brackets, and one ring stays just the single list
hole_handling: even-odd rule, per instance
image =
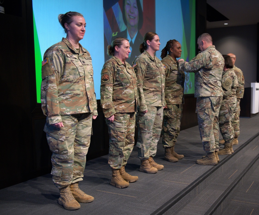
[{"label": "camouflage trousers of the woman with dark bobbed hair", "polygon": [[234,128],[232,121],[236,112],[237,103],[222,102],[219,110],[219,129],[225,140],[225,145],[229,145],[234,138]]}]

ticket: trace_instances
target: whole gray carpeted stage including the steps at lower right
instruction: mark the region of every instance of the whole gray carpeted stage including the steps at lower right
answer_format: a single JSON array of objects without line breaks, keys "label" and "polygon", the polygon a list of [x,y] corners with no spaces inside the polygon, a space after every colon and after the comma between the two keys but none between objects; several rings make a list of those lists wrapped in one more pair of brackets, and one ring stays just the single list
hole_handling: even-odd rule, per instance
[{"label": "whole gray carpeted stage including the steps at lower right", "polygon": [[259,214],[259,114],[240,118],[238,141],[235,152],[220,155],[217,165],[198,165],[196,160],[205,152],[195,126],[179,134],[175,151],[184,158],[178,162],[163,160],[160,139],[154,160],[164,169],[156,174],[139,171],[134,146],[126,171],[139,180],[128,188],[110,185],[105,155],[87,161],[80,182],[80,188],[95,198],[93,202],[80,203],[76,211],[65,210],[57,203],[59,191],[47,174],[0,190],[0,214]]}]

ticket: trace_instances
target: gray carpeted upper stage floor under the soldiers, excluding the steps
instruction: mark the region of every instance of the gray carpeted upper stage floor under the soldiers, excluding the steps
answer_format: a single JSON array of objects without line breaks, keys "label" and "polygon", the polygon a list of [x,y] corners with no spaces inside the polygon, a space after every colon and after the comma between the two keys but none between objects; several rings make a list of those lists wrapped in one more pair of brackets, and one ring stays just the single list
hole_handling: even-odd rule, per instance
[{"label": "gray carpeted upper stage floor under the soldiers, excluding the steps", "polygon": [[[234,150],[258,132],[259,114],[252,118],[240,118],[239,145],[233,146]],[[134,146],[126,171],[138,176],[139,180],[130,183],[125,189],[110,185],[111,170],[107,164],[108,155],[87,161],[80,188],[95,197],[95,200],[91,203],[80,203],[81,208],[76,211],[65,210],[57,204],[59,190],[54,186],[51,175],[47,174],[0,190],[0,214],[151,214],[169,199],[181,193],[207,170],[214,168],[196,164],[196,160],[205,155],[198,126],[181,131],[177,139],[175,151],[184,154],[184,158],[175,163],[163,160],[164,149],[160,139],[154,160],[163,164],[164,169],[156,174],[139,171],[140,160]],[[255,150],[258,148],[259,146]],[[226,155],[220,155],[219,158],[224,160]],[[256,177],[255,188],[250,189],[257,189],[255,197],[256,195],[258,197],[258,173],[254,181]],[[244,202],[246,197],[244,195],[243,197]],[[250,197],[247,198],[249,202]],[[242,208],[242,204],[239,207]],[[251,214],[259,214],[258,206]]]}]

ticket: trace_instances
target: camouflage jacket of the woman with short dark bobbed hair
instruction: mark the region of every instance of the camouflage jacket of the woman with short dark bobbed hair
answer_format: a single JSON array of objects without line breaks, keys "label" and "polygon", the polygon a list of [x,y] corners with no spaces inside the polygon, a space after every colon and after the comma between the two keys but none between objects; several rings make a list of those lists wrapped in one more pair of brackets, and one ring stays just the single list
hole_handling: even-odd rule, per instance
[{"label": "camouflage jacket of the woman with short dark bobbed hair", "polygon": [[[227,90],[226,90],[225,85],[228,86]],[[236,74],[234,72],[234,68],[223,71],[222,88],[223,88],[223,101],[224,102],[228,102],[229,104],[235,103],[237,87],[238,87],[238,77],[236,76]]]}]

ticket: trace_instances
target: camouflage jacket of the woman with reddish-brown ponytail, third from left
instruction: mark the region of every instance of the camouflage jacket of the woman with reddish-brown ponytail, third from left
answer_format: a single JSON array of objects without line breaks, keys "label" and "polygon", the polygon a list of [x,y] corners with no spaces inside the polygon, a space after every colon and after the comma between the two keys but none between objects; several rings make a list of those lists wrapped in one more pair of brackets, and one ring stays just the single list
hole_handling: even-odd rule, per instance
[{"label": "camouflage jacket of the woman with reddish-brown ponytail, third from left", "polygon": [[165,106],[165,73],[162,62],[144,51],[135,58],[133,67],[138,79],[139,110],[146,111],[147,106]]}]

